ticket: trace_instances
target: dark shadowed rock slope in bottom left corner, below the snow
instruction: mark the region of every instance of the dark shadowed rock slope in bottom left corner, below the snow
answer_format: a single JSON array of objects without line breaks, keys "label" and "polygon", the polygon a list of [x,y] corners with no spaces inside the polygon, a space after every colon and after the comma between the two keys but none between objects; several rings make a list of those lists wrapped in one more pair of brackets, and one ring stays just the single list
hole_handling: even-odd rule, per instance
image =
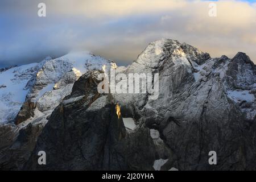
[{"label": "dark shadowed rock slope in bottom left corner, below the snow", "polygon": [[42,125],[31,123],[16,133],[10,125],[0,127],[0,169],[22,170],[35,148]]}]

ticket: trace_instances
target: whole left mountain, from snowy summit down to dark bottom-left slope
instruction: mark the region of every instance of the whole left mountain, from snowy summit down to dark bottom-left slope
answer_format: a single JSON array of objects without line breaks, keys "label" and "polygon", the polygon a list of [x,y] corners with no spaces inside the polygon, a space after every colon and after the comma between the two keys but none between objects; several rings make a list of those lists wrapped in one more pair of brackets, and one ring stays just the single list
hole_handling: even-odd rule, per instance
[{"label": "whole left mountain, from snowy summit down to dark bottom-left slope", "polygon": [[[113,61],[76,52],[1,72],[0,85],[5,86],[0,88],[0,131],[2,135],[10,135],[6,138],[9,145],[5,145],[5,139],[0,142],[0,151],[4,151],[0,156],[1,169],[23,167],[49,115],[72,92],[74,82],[81,75],[92,69],[108,72],[110,67],[116,67]],[[31,140],[16,145],[19,131],[27,130],[30,123],[36,133],[31,132]],[[5,125],[10,131],[5,130]],[[14,144],[17,147],[13,148]]]}]

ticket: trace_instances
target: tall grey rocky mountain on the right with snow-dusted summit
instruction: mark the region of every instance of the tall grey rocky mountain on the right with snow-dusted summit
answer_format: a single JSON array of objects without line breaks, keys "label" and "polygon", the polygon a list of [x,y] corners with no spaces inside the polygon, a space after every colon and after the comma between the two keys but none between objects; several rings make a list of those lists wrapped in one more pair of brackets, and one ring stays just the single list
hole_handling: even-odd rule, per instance
[{"label": "tall grey rocky mountain on the right with snow-dusted summit", "polygon": [[[159,73],[158,99],[148,100],[146,94],[114,98],[140,125],[160,131],[176,156],[176,168],[255,169],[254,67],[244,53],[231,60],[210,59],[196,48],[163,39],[151,43],[123,71]],[[241,100],[234,92],[241,93]],[[217,166],[208,164],[212,150]]]}]

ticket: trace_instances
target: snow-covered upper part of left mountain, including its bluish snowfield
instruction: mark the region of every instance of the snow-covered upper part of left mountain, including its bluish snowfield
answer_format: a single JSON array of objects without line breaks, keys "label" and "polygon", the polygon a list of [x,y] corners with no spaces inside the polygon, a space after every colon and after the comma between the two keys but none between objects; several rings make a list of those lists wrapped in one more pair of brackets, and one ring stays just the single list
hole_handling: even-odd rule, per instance
[{"label": "snow-covered upper part of left mountain, including its bluish snowfield", "polygon": [[40,63],[1,72],[0,123],[14,121],[18,113],[17,123],[36,118],[38,112],[51,113],[71,92],[73,83],[81,75],[92,69],[108,72],[111,67],[116,68],[117,65],[88,51],[73,51],[55,59],[46,57]]}]

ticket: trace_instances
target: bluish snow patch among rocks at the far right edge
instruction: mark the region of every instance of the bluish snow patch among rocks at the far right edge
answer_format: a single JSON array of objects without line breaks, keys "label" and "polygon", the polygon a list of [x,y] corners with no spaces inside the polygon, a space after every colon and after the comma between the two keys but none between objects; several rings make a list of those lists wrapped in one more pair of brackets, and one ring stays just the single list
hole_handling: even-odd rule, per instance
[{"label": "bluish snow patch among rocks at the far right edge", "polygon": [[228,97],[231,98],[233,101],[247,101],[247,102],[253,102],[254,101],[254,95],[249,93],[249,90],[228,90]]}]

